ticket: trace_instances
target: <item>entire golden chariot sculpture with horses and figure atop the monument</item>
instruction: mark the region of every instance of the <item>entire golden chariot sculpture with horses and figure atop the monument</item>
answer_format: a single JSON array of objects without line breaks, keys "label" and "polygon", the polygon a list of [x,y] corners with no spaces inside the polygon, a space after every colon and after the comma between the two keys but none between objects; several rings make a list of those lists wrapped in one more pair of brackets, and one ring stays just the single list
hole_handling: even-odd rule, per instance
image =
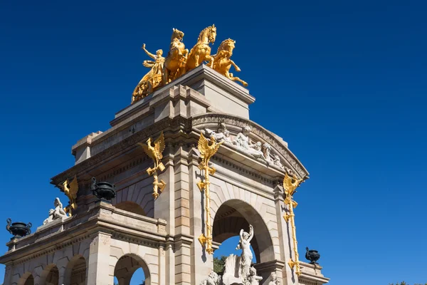
[{"label": "entire golden chariot sculpture with horses and figure atop the monument", "polygon": [[142,77],[133,91],[132,104],[149,95],[149,93],[152,93],[157,88],[174,81],[176,78],[184,75],[184,73],[200,66],[204,62],[206,62],[207,66],[214,68],[215,71],[226,76],[226,78],[232,81],[238,81],[243,84],[243,86],[248,86],[248,83],[233,76],[233,73],[229,72],[231,66],[234,66],[236,71],[241,71],[236,63],[230,59],[233,55],[236,41],[233,41],[231,38],[226,39],[218,47],[217,53],[211,56],[211,46],[209,46],[209,44],[213,44],[216,40],[215,25],[204,28],[203,31],[200,32],[197,43],[191,48],[191,51],[185,48],[182,42],[183,38],[184,33],[173,28],[169,52],[166,58],[163,57],[163,51],[161,49],[157,50],[154,55],[147,51],[145,44],[142,46],[145,53],[154,61],[144,61],[142,63],[143,66],[150,68],[150,71]]}]

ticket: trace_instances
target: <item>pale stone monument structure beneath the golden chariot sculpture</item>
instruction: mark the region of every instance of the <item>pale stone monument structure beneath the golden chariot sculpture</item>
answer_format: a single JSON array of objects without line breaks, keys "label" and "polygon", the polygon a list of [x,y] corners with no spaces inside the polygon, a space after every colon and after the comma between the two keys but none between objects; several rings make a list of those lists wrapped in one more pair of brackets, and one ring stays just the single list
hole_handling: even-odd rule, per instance
[{"label": "pale stone monument structure beneath the golden chariot sculpture", "polygon": [[[75,165],[51,179],[67,195],[60,199],[70,200],[68,214],[51,209],[33,234],[7,242],[4,284],[112,285],[116,276],[128,285],[139,267],[147,285],[221,283],[198,239],[206,230],[201,134],[222,142],[210,161],[214,249],[251,224],[258,261],[251,272],[262,277],[255,283],[269,284],[270,276],[275,284],[327,283],[319,265],[300,261],[300,276],[288,266],[294,248],[283,219],[283,177],[288,171],[306,179],[308,172],[283,138],[250,120],[254,101],[246,88],[201,64],[119,110],[108,130],[78,140]],[[161,134],[162,166],[147,173],[153,160],[139,143]],[[93,195],[92,177],[115,185],[112,201]]]}]

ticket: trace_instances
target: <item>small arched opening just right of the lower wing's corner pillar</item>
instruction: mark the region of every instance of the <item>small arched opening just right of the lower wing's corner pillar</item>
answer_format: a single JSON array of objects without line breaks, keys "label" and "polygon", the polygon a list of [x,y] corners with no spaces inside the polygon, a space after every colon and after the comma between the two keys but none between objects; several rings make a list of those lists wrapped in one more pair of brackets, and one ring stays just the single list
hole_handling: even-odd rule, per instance
[{"label": "small arched opening just right of the lower wing's corner pillar", "polygon": [[138,269],[142,269],[144,280],[140,284],[151,285],[149,269],[145,261],[136,254],[127,254],[117,261],[114,276],[118,285],[130,285],[130,280]]}]

